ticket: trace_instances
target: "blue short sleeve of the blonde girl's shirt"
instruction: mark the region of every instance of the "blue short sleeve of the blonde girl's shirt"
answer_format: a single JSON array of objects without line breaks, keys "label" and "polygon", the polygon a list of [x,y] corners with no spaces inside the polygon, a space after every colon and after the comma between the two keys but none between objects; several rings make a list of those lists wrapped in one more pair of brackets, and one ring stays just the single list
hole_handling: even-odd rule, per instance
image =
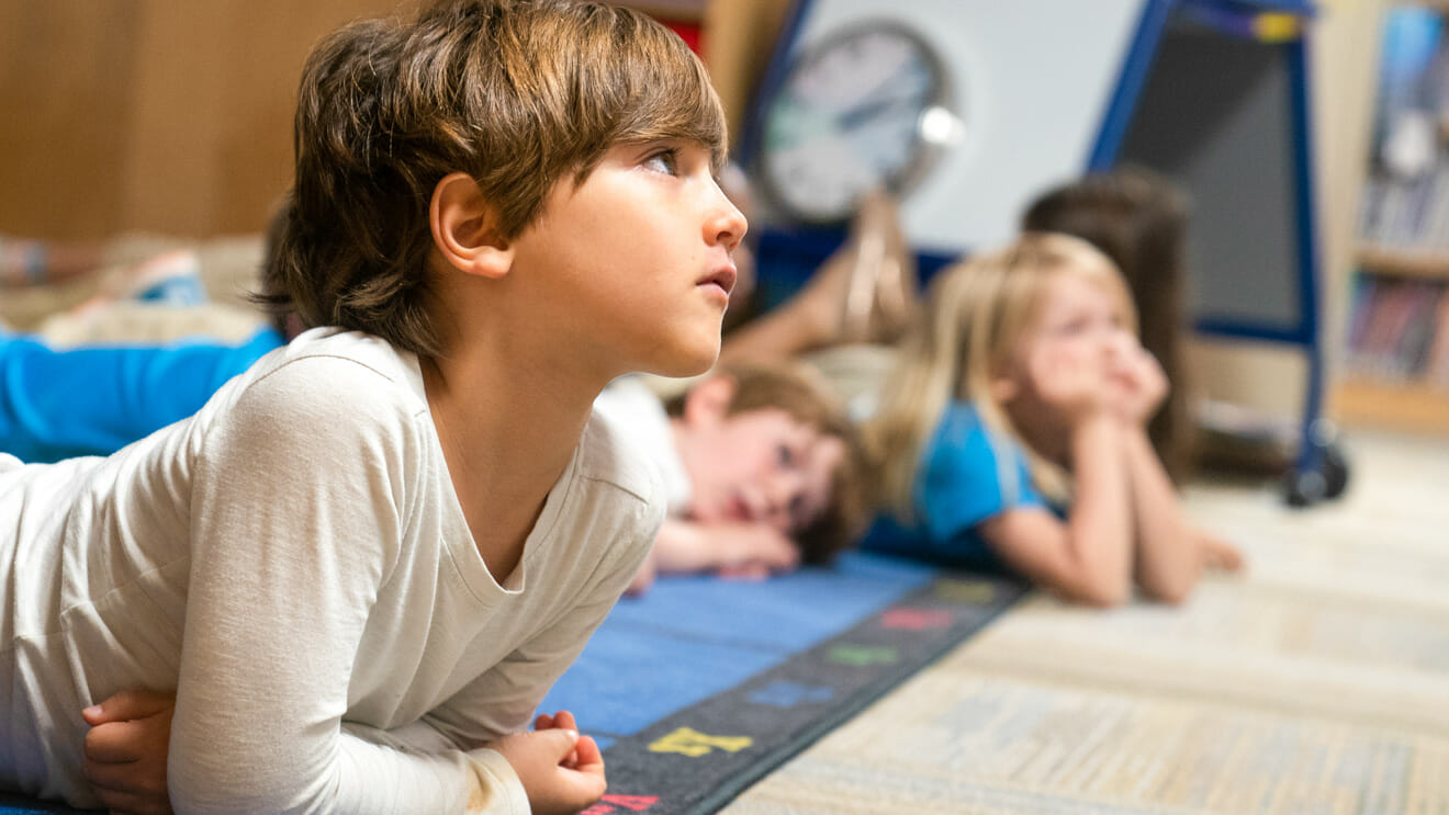
[{"label": "blue short sleeve of the blonde girl's shirt", "polygon": [[926,534],[946,543],[1006,510],[1045,507],[1017,444],[991,433],[969,407],[948,411],[927,452],[916,495]]}]

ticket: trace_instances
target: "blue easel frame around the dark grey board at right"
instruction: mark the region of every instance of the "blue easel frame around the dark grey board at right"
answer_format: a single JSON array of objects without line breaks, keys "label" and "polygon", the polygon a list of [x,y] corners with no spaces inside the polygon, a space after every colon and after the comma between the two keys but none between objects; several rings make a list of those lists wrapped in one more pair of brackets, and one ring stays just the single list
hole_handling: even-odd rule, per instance
[{"label": "blue easel frame around the dark grey board at right", "polygon": [[[1136,111],[1142,90],[1146,85],[1153,59],[1162,43],[1168,22],[1179,9],[1201,9],[1207,12],[1250,16],[1274,12],[1313,17],[1316,6],[1308,0],[1148,0],[1143,6],[1137,30],[1127,58],[1123,61],[1117,88],[1097,142],[1087,159],[1088,171],[1107,171],[1117,164],[1123,140]],[[1324,466],[1324,423],[1323,391],[1326,388],[1323,333],[1320,323],[1320,250],[1317,230],[1317,195],[1313,175],[1313,111],[1308,93],[1308,38],[1300,26],[1298,36],[1274,43],[1281,48],[1288,67],[1288,106],[1293,126],[1294,188],[1297,206],[1297,250],[1298,250],[1298,323],[1295,326],[1269,324],[1232,317],[1204,316],[1194,321],[1201,334],[1262,340],[1300,346],[1307,355],[1308,375],[1304,395],[1303,424],[1300,427],[1298,452],[1294,462],[1294,476],[1320,473]],[[1224,35],[1232,36],[1232,35]]]}]

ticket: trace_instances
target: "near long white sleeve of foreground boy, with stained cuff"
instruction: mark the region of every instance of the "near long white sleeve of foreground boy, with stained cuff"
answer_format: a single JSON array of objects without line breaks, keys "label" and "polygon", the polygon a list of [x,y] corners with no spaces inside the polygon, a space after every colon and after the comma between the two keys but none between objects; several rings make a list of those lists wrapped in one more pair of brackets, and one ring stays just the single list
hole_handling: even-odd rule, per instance
[{"label": "near long white sleeve of foreground boy, with stained cuff", "polygon": [[342,728],[362,631],[398,559],[419,431],[400,385],[294,360],[201,440],[168,786],[178,812],[526,812],[493,751]]}]

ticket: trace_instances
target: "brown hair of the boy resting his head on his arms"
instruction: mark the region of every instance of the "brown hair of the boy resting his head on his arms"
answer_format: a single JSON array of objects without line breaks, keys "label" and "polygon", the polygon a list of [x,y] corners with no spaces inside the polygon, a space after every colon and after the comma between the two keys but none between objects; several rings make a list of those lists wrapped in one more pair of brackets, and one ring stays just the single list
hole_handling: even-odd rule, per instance
[{"label": "brown hair of the boy resting his head on his arms", "polygon": [[[793,540],[804,563],[827,563],[864,531],[869,512],[865,483],[865,456],[859,433],[843,405],[813,371],[787,363],[720,365],[711,376],[735,381],[726,415],[755,410],[782,410],[790,418],[826,437],[845,443],[845,457],[830,473],[830,495],[820,515]],[[682,415],[685,397],[671,400],[669,415]]]}]

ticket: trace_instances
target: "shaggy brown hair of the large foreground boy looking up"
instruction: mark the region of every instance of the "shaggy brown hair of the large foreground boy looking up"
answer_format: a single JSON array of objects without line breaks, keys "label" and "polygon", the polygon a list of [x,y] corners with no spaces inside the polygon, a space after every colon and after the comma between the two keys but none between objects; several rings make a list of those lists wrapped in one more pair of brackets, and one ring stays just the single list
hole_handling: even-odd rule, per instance
[{"label": "shaggy brown hair of the large foreground boy looking up", "polygon": [[724,114],[698,58],[640,12],[591,0],[454,0],[323,39],[297,94],[296,178],[261,300],[422,355],[433,188],[467,172],[500,237],[555,182],[582,184],[619,143],[678,138],[724,159]]}]

